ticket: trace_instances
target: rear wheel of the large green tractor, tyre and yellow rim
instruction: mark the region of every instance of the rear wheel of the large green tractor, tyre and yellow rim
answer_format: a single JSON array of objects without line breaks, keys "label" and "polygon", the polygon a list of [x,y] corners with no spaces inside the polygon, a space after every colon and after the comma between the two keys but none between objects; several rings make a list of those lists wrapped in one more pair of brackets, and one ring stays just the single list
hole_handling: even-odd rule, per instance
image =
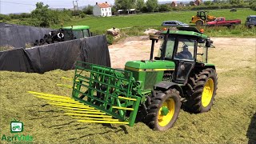
[{"label": "rear wheel of the large green tractor, tyre and yellow rim", "polygon": [[187,84],[189,95],[186,109],[193,113],[209,111],[214,104],[216,90],[218,89],[218,76],[214,69],[202,70],[194,77],[190,77]]}]

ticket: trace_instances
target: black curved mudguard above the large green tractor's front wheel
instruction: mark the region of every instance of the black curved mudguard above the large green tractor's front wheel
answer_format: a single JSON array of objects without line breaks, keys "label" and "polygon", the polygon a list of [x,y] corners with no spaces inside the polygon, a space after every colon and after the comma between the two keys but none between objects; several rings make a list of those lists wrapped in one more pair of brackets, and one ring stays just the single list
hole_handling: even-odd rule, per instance
[{"label": "black curved mudguard above the large green tractor's front wheel", "polygon": [[158,82],[157,84],[154,85],[154,90],[157,90],[157,89],[169,90],[170,88],[172,88],[172,89],[175,88],[176,90],[178,90],[180,92],[180,95],[183,96],[182,87],[179,86],[178,83],[162,81],[162,82]]}]

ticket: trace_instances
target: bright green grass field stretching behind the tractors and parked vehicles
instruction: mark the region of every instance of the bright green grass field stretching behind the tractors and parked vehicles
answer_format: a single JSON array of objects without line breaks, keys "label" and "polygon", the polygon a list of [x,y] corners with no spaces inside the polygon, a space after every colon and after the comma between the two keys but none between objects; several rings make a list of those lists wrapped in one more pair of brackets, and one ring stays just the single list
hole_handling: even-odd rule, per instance
[{"label": "bright green grass field stretching behind the tractors and parked vehicles", "polygon": [[[230,30],[226,27],[220,28],[206,28],[206,34],[214,37],[255,37],[256,30],[248,30],[244,27],[246,17],[248,15],[256,14],[254,10],[250,9],[238,9],[237,12],[230,12],[230,10],[209,10],[210,15],[215,17],[226,17],[226,19],[241,19],[242,26],[238,26],[234,30]],[[162,21],[167,20],[178,20],[181,22],[190,22],[196,11],[171,11],[167,13],[152,13],[152,14],[135,14],[135,15],[124,15],[124,16],[113,16],[113,17],[92,17],[73,19],[71,22],[64,22],[64,26],[71,25],[88,25],[94,33],[104,33],[107,29],[112,27],[124,28],[132,26],[143,26],[139,30],[146,30],[146,28],[154,28],[154,26],[161,26]],[[59,28],[53,26],[53,28]],[[159,29],[159,27],[157,27]],[[131,32],[129,32],[131,31]],[[126,30],[128,35],[142,34],[138,33],[138,29]]]}]

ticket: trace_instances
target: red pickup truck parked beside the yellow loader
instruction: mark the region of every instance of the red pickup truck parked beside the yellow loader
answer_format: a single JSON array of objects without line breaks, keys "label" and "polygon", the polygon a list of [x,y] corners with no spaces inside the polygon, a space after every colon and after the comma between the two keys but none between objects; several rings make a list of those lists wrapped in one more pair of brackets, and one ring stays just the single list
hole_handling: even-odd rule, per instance
[{"label": "red pickup truck parked beside the yellow loader", "polygon": [[216,18],[212,22],[207,22],[206,26],[227,26],[228,28],[234,28],[235,25],[241,24],[240,19],[226,20],[226,18]]}]

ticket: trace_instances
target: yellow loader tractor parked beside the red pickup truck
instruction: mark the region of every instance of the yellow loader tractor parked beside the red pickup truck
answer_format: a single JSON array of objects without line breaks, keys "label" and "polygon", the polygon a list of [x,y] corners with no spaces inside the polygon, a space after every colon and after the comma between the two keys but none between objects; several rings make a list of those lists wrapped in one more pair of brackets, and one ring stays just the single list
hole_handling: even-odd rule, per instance
[{"label": "yellow loader tractor parked beside the red pickup truck", "polygon": [[199,10],[196,16],[192,16],[191,22],[196,26],[203,26],[206,22],[214,21],[216,17],[207,14],[208,11]]}]

